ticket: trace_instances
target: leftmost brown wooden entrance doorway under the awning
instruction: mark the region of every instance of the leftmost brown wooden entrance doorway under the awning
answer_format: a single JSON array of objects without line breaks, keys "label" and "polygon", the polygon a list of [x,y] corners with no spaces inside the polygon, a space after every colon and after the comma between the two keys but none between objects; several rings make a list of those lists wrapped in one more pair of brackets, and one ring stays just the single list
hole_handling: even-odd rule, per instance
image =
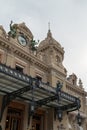
[{"label": "leftmost brown wooden entrance doorway under the awning", "polygon": [[25,105],[11,102],[7,109],[5,130],[23,130]]}]

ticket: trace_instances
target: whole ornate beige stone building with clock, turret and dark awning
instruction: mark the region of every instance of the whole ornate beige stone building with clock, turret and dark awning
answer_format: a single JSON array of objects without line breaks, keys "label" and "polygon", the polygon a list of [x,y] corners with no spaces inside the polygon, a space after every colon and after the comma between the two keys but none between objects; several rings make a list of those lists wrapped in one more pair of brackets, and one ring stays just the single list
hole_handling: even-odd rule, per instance
[{"label": "whole ornate beige stone building with clock, turret and dark awning", "polygon": [[63,60],[50,29],[37,45],[25,23],[0,25],[0,130],[87,130],[87,92]]}]

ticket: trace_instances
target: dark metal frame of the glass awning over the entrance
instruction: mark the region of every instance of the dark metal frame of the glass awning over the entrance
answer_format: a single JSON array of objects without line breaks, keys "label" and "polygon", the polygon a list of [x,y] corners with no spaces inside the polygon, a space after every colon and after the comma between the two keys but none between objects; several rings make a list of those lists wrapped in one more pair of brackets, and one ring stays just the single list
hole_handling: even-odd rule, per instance
[{"label": "dark metal frame of the glass awning over the entrance", "polygon": [[[54,87],[48,86],[47,84],[40,82],[36,78],[20,73],[15,69],[12,69],[11,67],[8,67],[1,63],[0,63],[0,74],[12,77],[13,79],[17,79],[27,84],[26,86],[12,92],[6,92],[5,90],[4,91],[0,90],[0,92],[3,91],[3,93],[5,93],[2,99],[0,122],[2,120],[2,116],[5,108],[9,105],[11,101],[15,100],[16,98],[24,99],[28,101],[30,104],[32,104],[34,100],[36,109],[38,107],[47,106],[47,107],[53,107],[56,110],[60,108],[62,111],[70,112],[70,111],[78,110],[81,106],[79,98],[72,96],[66,92],[63,92],[61,91],[61,89],[56,89]],[[57,87],[59,88],[59,86]],[[49,92],[50,94],[47,97],[35,101],[34,91],[37,90],[41,90],[46,93]],[[32,92],[31,99],[23,96],[23,94],[26,92]],[[65,105],[61,105],[60,100],[62,101],[66,100],[69,103]],[[53,105],[53,103],[55,103],[56,105]]]}]

